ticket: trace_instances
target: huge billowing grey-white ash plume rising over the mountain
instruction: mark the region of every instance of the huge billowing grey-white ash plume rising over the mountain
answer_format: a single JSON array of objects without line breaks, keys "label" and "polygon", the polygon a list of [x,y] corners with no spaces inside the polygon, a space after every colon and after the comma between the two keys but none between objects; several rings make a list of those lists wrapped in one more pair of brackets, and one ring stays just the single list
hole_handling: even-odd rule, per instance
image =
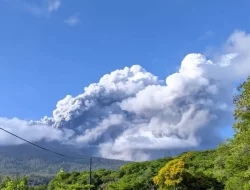
[{"label": "huge billowing grey-white ash plume rising over the mountain", "polygon": [[28,125],[53,126],[51,139],[94,147],[107,158],[145,160],[215,147],[218,129],[232,124],[233,84],[250,74],[250,36],[235,32],[225,49],[216,62],[187,55],[165,81],[139,65],[113,71],[60,100],[53,117]]}]

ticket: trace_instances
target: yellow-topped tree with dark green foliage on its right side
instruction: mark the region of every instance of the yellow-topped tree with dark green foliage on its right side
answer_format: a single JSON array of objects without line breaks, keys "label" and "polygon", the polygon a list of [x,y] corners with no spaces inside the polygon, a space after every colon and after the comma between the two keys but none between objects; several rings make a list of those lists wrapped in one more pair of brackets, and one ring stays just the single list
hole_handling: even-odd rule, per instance
[{"label": "yellow-topped tree with dark green foliage on its right side", "polygon": [[[204,172],[213,167],[211,160],[206,160],[210,153],[189,152],[166,163],[154,177],[155,184],[160,190],[222,190],[223,185],[210,172]],[[204,155],[205,159],[202,158]]]}]

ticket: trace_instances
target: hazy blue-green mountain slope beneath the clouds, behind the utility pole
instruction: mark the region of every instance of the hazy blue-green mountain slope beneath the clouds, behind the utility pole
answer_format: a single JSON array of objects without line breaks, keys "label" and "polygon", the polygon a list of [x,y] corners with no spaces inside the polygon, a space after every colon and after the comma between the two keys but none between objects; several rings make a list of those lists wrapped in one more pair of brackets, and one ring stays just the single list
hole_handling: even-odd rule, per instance
[{"label": "hazy blue-green mountain slope beneath the clouds, behind the utility pole", "polygon": [[[39,144],[39,143],[38,143]],[[85,171],[89,169],[89,153],[70,146],[56,143],[40,143],[53,151],[82,159],[61,157],[28,144],[0,147],[0,175],[55,176],[63,168],[65,171]],[[109,159],[92,159],[93,169],[117,170],[128,162]]]}]

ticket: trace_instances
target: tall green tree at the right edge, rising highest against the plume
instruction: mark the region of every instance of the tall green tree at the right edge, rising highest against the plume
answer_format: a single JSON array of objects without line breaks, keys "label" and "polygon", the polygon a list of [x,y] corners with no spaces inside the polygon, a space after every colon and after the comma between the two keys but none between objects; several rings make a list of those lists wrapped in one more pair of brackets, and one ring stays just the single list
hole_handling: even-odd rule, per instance
[{"label": "tall green tree at the right edge, rising highest against the plume", "polygon": [[221,145],[215,161],[217,178],[226,190],[250,189],[250,77],[234,97],[235,135]]}]

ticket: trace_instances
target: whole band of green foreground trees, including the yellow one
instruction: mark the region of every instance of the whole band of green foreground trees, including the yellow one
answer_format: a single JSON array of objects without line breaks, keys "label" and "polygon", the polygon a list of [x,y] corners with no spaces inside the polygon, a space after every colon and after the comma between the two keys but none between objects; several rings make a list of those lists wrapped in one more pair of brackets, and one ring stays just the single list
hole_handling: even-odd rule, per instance
[{"label": "whole band of green foreground trees, including the yellow one", "polygon": [[235,135],[216,150],[187,152],[176,157],[134,162],[119,170],[60,172],[47,186],[27,178],[1,180],[5,190],[249,190],[250,189],[250,78],[234,98]]}]

